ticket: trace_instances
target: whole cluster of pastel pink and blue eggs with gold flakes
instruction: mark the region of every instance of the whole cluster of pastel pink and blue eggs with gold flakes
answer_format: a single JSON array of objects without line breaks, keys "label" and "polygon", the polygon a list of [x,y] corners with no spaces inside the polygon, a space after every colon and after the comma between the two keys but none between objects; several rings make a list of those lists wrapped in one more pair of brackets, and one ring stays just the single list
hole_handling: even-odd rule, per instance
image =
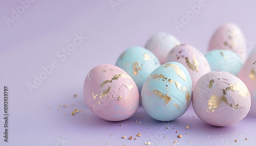
[{"label": "whole cluster of pastel pink and blue eggs with gold flakes", "polygon": [[140,103],[152,118],[174,120],[192,101],[205,123],[228,126],[250,109],[256,115],[256,53],[247,58],[244,47],[244,35],[233,23],[217,29],[205,55],[173,35],[156,33],[145,48],[127,48],[115,65],[91,69],[84,100],[95,115],[110,121],[131,117]]}]

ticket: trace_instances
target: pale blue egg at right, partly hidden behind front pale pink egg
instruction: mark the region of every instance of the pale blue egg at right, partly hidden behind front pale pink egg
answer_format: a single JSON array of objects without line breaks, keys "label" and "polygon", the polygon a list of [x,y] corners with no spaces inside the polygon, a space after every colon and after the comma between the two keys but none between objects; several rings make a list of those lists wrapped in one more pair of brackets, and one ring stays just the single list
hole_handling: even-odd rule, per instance
[{"label": "pale blue egg at right, partly hidden behind front pale pink egg", "polygon": [[229,50],[213,50],[205,54],[205,57],[212,71],[222,70],[237,76],[243,66],[241,58]]}]

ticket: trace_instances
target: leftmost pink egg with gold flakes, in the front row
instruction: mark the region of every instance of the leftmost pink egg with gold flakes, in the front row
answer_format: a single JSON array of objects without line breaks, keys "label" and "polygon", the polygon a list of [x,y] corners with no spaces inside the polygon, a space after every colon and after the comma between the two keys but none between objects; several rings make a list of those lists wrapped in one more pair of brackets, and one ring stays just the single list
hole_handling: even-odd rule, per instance
[{"label": "leftmost pink egg with gold flakes, in the front row", "polygon": [[139,91],[131,76],[110,64],[98,65],[89,71],[83,95],[88,108],[105,120],[127,119],[139,107]]}]

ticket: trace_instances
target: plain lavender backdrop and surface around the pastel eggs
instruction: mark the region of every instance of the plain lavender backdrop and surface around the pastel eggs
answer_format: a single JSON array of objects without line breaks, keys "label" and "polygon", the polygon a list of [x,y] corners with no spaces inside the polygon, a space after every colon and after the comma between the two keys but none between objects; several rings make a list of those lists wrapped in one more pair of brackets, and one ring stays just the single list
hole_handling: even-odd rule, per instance
[{"label": "plain lavender backdrop and surface around the pastel eggs", "polygon": [[[144,145],[147,141],[151,145],[170,145],[174,140],[176,145],[256,142],[255,117],[248,116],[238,124],[218,128],[193,117],[196,114],[191,106],[182,117],[169,123],[152,119],[140,107],[127,120],[109,122],[93,115],[82,95],[84,78],[92,67],[114,64],[127,47],[144,46],[156,32],[173,34],[182,43],[206,53],[212,33],[223,23],[234,22],[244,32],[249,51],[256,43],[255,1],[205,0],[205,6],[179,31],[174,22],[181,23],[182,14],[191,11],[189,6],[201,1],[27,2],[24,8],[20,1],[0,1],[0,145],[107,145],[108,142]],[[111,7],[110,2],[117,6]],[[21,14],[7,23],[5,19],[12,18],[12,9]],[[86,39],[66,59],[58,57],[63,47],[73,43],[75,34]],[[34,75],[39,76],[44,71],[42,66],[49,66],[52,61],[58,67],[30,92],[27,83],[33,83]],[[4,85],[9,87],[9,142],[3,138]],[[75,108],[83,111],[71,116]],[[190,127],[188,130],[186,125]],[[138,133],[142,136],[136,137]],[[177,138],[178,134],[183,137]],[[124,135],[126,139],[121,139]],[[137,139],[129,140],[129,136]]]}]

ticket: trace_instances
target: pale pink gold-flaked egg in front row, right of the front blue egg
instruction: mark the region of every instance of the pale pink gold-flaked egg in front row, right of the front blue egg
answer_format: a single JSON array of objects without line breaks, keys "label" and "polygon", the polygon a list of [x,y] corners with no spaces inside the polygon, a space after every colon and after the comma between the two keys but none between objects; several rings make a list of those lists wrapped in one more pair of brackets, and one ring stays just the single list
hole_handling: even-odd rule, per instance
[{"label": "pale pink gold-flaked egg in front row, right of the front blue egg", "polygon": [[238,77],[226,71],[202,76],[193,89],[192,105],[205,123],[228,126],[242,120],[251,106],[250,93]]}]

